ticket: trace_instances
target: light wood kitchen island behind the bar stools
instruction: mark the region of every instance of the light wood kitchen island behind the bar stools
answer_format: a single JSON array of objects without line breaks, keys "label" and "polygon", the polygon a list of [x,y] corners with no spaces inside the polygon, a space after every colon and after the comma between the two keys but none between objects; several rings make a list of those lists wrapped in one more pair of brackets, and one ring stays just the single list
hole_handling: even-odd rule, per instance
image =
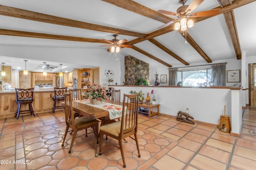
[{"label": "light wood kitchen island behind the bar stools", "polygon": [[[53,96],[53,88],[34,90],[34,102],[32,104],[34,113],[52,111],[52,107],[54,104],[54,101],[52,100]],[[15,116],[17,109],[17,104],[15,103],[15,100],[15,90],[5,90],[4,92],[0,92],[0,119]],[[58,106],[61,106],[61,103],[58,103]],[[25,106],[21,107],[21,110],[27,109],[28,106],[26,106],[26,108]]]}]

